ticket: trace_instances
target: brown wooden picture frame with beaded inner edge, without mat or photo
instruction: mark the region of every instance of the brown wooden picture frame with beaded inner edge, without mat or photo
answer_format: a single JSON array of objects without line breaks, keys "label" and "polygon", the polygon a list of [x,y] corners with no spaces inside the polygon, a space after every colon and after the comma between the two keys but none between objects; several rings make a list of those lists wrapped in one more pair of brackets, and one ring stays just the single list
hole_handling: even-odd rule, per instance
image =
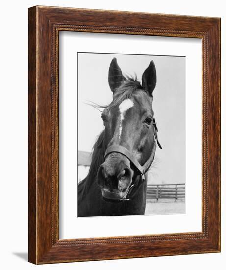
[{"label": "brown wooden picture frame with beaded inner edge, without mat or photo", "polygon": [[[202,40],[202,231],[59,240],[59,31]],[[28,261],[220,252],[220,19],[35,6],[28,10]]]}]

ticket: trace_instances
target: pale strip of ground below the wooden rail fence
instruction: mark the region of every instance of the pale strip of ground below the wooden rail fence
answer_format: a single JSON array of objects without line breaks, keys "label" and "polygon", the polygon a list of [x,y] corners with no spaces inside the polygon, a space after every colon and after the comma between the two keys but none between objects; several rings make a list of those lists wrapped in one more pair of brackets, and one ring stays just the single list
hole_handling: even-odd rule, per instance
[{"label": "pale strip of ground below the wooden rail fence", "polygon": [[145,215],[185,213],[185,201],[174,199],[147,199]]}]

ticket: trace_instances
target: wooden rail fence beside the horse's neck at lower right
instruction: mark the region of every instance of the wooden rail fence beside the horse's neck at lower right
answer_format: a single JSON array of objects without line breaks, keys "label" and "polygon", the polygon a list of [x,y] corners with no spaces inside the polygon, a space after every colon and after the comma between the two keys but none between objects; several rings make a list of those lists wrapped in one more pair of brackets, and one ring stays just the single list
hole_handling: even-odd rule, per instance
[{"label": "wooden rail fence beside the horse's neck at lower right", "polygon": [[148,199],[177,199],[185,197],[185,184],[148,185]]}]

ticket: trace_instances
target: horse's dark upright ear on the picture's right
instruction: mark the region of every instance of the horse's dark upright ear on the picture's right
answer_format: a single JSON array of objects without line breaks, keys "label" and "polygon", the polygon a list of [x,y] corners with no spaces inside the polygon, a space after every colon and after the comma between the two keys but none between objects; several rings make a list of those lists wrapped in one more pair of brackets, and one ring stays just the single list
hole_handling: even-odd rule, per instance
[{"label": "horse's dark upright ear on the picture's right", "polygon": [[156,69],[154,62],[151,61],[149,66],[146,68],[142,75],[142,87],[144,90],[152,96],[152,92],[154,91],[156,85]]}]

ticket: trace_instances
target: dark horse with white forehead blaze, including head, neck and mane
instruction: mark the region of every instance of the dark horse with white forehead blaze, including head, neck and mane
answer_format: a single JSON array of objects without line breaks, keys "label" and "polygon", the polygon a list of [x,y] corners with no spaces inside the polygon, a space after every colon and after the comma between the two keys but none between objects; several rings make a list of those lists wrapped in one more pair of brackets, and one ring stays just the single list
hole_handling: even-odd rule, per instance
[{"label": "dark horse with white forehead blaze, including head, neck and mane", "polygon": [[147,172],[154,160],[157,126],[152,108],[156,69],[151,61],[136,78],[123,75],[113,58],[108,73],[113,93],[102,108],[104,130],[93,147],[88,175],[78,184],[77,216],[143,215]]}]

